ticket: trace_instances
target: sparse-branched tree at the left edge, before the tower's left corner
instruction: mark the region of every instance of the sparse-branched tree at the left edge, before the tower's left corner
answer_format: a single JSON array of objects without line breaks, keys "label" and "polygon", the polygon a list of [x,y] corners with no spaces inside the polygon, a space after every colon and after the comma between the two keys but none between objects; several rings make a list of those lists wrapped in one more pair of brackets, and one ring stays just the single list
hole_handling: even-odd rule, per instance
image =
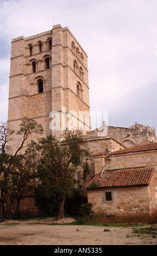
[{"label": "sparse-branched tree at the left edge, before the tower's left corner", "polygon": [[[42,126],[33,119],[24,118],[17,132],[7,123],[0,126],[0,188],[5,218],[12,218],[12,208],[19,212],[25,186],[36,176],[37,150],[34,142],[28,144],[32,133],[43,133]],[[14,143],[14,149],[7,145],[9,141]],[[14,198],[17,199],[16,209]]]}]

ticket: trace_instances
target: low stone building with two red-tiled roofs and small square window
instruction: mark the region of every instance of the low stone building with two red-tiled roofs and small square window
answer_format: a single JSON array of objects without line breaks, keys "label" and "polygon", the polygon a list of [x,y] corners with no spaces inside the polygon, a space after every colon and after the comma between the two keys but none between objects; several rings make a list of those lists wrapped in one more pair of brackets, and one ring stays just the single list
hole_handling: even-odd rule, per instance
[{"label": "low stone building with two red-tiled roofs and small square window", "polygon": [[94,162],[99,164],[95,164],[95,176],[86,186],[94,211],[117,215],[155,212],[156,161],[157,143],[94,154]]}]

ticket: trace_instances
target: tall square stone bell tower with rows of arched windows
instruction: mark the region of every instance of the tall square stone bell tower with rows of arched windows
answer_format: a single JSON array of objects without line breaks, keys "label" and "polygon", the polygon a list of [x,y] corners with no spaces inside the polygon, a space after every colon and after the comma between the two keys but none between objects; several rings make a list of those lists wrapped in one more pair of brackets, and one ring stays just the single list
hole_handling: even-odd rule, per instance
[{"label": "tall square stone bell tower with rows of arched windows", "polygon": [[[12,39],[8,123],[23,117],[42,124],[44,135],[66,127],[90,130],[87,53],[68,27]],[[32,138],[35,139],[35,138]]]}]

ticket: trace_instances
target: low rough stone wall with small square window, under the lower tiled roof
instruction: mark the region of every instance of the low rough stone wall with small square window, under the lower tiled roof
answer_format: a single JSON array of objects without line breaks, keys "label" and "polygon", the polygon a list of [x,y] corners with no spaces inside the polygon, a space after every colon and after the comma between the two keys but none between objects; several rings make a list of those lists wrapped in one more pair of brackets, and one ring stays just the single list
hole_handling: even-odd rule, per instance
[{"label": "low rough stone wall with small square window, under the lower tiled roof", "polygon": [[[113,200],[103,203],[105,192],[112,192]],[[148,186],[101,188],[88,191],[88,202],[93,204],[93,210],[104,214],[138,214],[155,210],[149,198]]]}]

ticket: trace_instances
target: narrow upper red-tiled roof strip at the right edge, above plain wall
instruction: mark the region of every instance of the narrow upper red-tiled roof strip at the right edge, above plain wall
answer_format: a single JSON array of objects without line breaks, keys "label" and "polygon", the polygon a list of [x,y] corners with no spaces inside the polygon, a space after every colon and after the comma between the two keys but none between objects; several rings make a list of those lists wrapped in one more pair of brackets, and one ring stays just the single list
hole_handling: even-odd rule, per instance
[{"label": "narrow upper red-tiled roof strip at the right edge, above plain wall", "polygon": [[112,155],[125,154],[125,153],[129,153],[129,152],[138,152],[138,151],[153,150],[153,149],[157,149],[157,143],[152,143],[151,142],[151,143],[146,143],[146,144],[139,144],[139,145],[136,145],[132,148],[113,151],[110,154],[112,154]]}]

